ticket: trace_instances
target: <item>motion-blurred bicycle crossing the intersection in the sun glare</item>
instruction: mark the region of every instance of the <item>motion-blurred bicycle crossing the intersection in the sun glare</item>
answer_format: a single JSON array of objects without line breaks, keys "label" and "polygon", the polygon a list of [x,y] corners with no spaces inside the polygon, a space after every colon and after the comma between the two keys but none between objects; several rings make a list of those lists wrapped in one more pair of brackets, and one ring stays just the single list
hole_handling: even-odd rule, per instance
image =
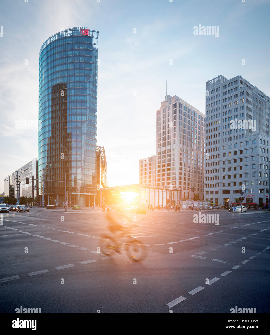
[{"label": "motion-blurred bicycle crossing the intersection in the sun glare", "polygon": [[[133,224],[133,226],[135,226]],[[120,233],[109,235],[103,234],[100,238],[100,252],[105,256],[111,256],[113,253],[121,254],[120,249],[125,246],[127,256],[134,262],[142,261],[147,256],[147,249],[142,243],[130,234],[130,226],[124,226]],[[129,235],[127,237],[127,235]],[[120,242],[126,236],[127,242]]]}]

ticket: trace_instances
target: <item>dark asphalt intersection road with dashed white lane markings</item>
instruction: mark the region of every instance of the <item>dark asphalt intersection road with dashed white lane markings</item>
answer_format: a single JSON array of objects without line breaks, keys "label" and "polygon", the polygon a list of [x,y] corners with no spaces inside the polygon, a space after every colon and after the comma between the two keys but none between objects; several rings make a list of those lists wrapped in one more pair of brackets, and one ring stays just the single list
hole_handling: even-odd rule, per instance
[{"label": "dark asphalt intersection road with dashed white lane markings", "polygon": [[219,214],[219,225],[195,214],[137,214],[132,235],[148,257],[136,263],[97,253],[107,232],[99,210],[3,213],[0,313],[269,313],[269,212],[201,212]]}]

